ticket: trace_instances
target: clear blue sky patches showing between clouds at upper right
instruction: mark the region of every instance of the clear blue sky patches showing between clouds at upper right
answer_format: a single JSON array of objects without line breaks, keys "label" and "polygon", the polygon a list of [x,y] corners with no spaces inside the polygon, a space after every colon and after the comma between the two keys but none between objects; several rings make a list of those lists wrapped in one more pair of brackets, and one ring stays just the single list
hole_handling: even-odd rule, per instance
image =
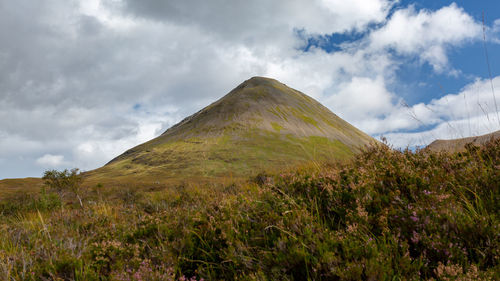
[{"label": "clear blue sky patches showing between clouds at upper right", "polygon": [[[404,9],[408,6],[414,6],[418,10],[438,10],[442,7],[456,3],[462,7],[475,20],[485,19],[485,26],[492,26],[496,19],[500,19],[500,2],[491,0],[479,1],[399,1],[395,4],[392,12],[398,9]],[[390,17],[391,13],[388,13]],[[376,28],[376,27],[372,27]],[[355,42],[360,40],[369,30],[363,33],[333,33],[325,35],[323,40],[317,40],[314,37],[307,37],[307,44],[303,50],[307,52],[312,46],[317,46],[327,52],[339,50],[339,45],[345,42]],[[299,32],[300,34],[301,32]],[[303,36],[301,34],[301,36]],[[486,42],[486,49],[489,55],[491,74],[493,77],[500,74],[500,67],[495,66],[495,62],[500,61],[500,44]],[[397,75],[400,83],[393,85],[392,90],[398,92],[409,104],[418,102],[429,102],[431,99],[443,96],[445,93],[456,93],[460,89],[472,82],[476,77],[489,77],[486,63],[485,47],[482,40],[470,42],[464,46],[449,50],[449,60],[453,68],[462,73],[458,76],[450,76],[445,73],[434,73],[429,64],[422,64],[418,60],[409,58],[399,69]],[[401,83],[404,82],[404,83]]]}]

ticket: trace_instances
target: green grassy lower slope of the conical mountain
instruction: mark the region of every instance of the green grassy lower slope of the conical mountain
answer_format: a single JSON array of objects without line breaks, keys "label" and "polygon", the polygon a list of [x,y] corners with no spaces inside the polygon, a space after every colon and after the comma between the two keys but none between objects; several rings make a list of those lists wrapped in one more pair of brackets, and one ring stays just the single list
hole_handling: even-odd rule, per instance
[{"label": "green grassy lower slope of the conical mountain", "polygon": [[140,186],[183,182],[224,182],[248,179],[258,172],[291,168],[297,163],[348,160],[354,152],[345,144],[326,137],[280,136],[276,132],[251,130],[237,137],[219,136],[171,141],[134,157],[113,162],[86,175],[87,183]]}]

